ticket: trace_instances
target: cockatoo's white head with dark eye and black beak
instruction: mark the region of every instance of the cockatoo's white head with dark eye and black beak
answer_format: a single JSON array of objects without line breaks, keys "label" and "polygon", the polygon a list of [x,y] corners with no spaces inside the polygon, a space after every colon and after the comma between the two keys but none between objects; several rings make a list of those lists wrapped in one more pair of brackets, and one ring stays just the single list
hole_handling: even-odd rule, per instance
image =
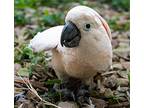
[{"label": "cockatoo's white head with dark eye and black beak", "polygon": [[111,32],[106,21],[95,10],[86,6],[76,6],[66,15],[61,45],[68,48],[77,47],[82,38],[100,39],[101,34],[111,39]]}]

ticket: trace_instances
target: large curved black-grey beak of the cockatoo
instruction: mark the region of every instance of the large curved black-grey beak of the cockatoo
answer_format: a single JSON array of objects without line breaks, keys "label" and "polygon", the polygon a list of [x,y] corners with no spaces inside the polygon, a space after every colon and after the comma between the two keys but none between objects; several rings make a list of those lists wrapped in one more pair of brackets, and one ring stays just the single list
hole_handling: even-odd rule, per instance
[{"label": "large curved black-grey beak of the cockatoo", "polygon": [[80,39],[81,33],[77,26],[72,22],[66,23],[61,34],[61,45],[68,48],[77,47]]}]

